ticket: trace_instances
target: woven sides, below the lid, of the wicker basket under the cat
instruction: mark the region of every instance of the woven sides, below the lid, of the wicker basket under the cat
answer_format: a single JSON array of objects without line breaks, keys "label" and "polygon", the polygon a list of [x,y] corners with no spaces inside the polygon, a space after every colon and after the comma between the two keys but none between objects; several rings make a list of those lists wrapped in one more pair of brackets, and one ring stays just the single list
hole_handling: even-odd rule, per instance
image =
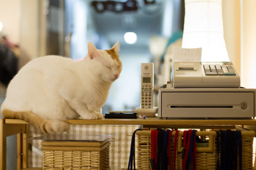
[{"label": "woven sides, below the lid, of the wicker basket under the cat", "polygon": [[109,170],[109,145],[100,151],[52,148],[43,150],[43,170]]}]

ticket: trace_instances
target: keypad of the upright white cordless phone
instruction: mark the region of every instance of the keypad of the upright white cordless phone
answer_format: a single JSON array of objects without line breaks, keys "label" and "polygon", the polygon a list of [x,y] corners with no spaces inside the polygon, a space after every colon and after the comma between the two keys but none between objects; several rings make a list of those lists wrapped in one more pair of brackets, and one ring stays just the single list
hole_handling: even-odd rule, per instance
[{"label": "keypad of the upright white cordless phone", "polygon": [[153,94],[151,85],[142,85],[141,87],[141,108],[153,107]]}]

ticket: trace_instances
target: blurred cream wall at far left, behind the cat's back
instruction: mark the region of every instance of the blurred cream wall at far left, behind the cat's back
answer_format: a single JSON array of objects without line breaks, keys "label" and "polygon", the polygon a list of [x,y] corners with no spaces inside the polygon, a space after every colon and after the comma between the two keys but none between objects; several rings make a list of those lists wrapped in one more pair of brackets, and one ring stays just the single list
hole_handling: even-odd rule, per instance
[{"label": "blurred cream wall at far left, behind the cat's back", "polygon": [[39,3],[40,0],[0,0],[2,33],[20,45],[20,67],[39,56]]}]

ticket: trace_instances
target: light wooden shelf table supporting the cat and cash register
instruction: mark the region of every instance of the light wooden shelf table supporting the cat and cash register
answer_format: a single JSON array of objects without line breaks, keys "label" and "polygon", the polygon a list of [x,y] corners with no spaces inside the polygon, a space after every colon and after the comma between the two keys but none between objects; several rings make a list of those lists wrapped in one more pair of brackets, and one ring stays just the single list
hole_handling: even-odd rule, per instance
[{"label": "light wooden shelf table supporting the cat and cash register", "polygon": [[[162,119],[159,117],[147,117],[147,119],[71,119],[67,120],[67,122],[73,125],[143,125],[144,128],[164,127],[174,129],[237,129],[236,127],[256,127],[256,119]],[[4,164],[6,162],[6,137],[14,134],[18,134],[18,167],[27,167],[28,142],[24,139],[28,135],[28,124],[20,119],[0,119],[0,148],[2,148],[0,152],[0,170],[6,170]]]}]

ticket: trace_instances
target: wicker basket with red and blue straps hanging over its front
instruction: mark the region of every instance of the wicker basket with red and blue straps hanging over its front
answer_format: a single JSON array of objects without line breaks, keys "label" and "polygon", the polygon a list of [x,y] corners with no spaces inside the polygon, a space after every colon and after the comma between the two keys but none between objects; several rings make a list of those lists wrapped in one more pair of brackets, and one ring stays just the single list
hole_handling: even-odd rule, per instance
[{"label": "wicker basket with red and blue straps hanging over its front", "polygon": [[[151,131],[137,131],[138,135],[138,170],[151,170]],[[174,136],[175,132],[172,133]],[[242,131],[242,169],[253,169],[253,136],[254,131]],[[182,135],[183,131],[179,132],[176,156],[176,170],[182,169]],[[207,146],[197,146],[197,170],[216,170],[217,164],[217,147],[216,147],[216,132],[215,131],[197,131],[196,136],[201,136],[201,139],[207,139]],[[171,141],[171,153],[173,154],[174,143]],[[220,153],[219,153],[220,158]]]}]

